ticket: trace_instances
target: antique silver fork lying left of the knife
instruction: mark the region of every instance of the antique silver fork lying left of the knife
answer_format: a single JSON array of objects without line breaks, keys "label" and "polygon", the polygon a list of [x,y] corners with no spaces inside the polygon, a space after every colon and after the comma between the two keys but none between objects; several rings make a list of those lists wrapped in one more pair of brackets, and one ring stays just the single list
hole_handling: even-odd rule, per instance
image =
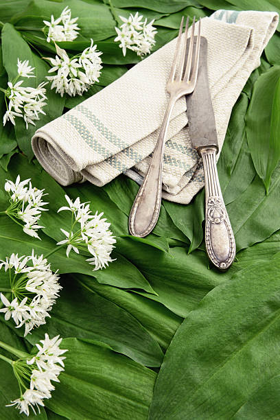
[{"label": "antique silver fork lying left of the knife", "polygon": [[154,226],[159,218],[159,211],[161,209],[163,152],[172,110],[176,101],[180,97],[192,93],[196,86],[200,50],[200,20],[198,22],[196,48],[194,48],[194,27],[196,23],[196,18],[194,17],[191,27],[189,47],[187,49],[187,31],[189,27],[189,17],[187,17],[183,51],[180,54],[180,49],[182,49],[180,45],[182,43],[184,20],[183,16],[180,23],[180,30],[170,71],[170,77],[166,85],[166,90],[167,93],[170,94],[170,99],[163,118],[163,124],[161,125],[161,130],[159,132],[159,139],[156,143],[148,172],[141,187],[139,188],[135,202],[133,203],[130,211],[128,221],[129,231],[131,235],[138,237],[148,235],[152,229],[154,229]]}]

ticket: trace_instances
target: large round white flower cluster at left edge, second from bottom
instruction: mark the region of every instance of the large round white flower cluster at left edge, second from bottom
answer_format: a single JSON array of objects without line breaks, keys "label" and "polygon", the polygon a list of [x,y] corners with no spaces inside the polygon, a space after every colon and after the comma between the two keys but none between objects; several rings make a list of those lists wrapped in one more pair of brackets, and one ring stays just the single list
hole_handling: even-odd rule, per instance
[{"label": "large round white flower cluster at left edge, second from bottom", "polygon": [[[27,266],[27,263],[31,264]],[[12,301],[1,293],[5,307],[0,312],[5,313],[5,320],[12,318],[17,328],[24,325],[26,336],[34,327],[45,324],[45,318],[62,289],[59,276],[51,271],[47,259],[43,255],[37,257],[33,250],[27,257],[12,254],[5,261],[0,260],[0,270],[2,267],[9,270]]]}]

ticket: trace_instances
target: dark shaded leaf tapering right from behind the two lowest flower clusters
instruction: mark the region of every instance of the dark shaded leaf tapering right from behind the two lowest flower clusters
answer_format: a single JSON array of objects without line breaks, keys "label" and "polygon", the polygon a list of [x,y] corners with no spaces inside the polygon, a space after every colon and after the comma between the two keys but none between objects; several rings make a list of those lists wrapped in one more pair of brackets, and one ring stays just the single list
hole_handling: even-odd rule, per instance
[{"label": "dark shaded leaf tapering right from behind the two lowest flower clusters", "polygon": [[[160,366],[163,353],[148,331],[126,310],[100,296],[82,281],[62,277],[56,305],[47,324],[32,331],[27,340],[35,344],[43,333],[50,337],[82,338],[89,342],[101,341],[118,353],[145,366]],[[73,316],[75,314],[75,316]]]}]

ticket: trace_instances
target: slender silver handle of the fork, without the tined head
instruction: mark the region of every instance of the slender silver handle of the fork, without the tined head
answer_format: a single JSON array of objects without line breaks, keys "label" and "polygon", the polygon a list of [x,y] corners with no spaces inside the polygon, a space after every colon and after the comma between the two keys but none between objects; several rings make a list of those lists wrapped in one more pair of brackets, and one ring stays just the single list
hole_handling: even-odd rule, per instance
[{"label": "slender silver handle of the fork, without the tined head", "polygon": [[130,210],[128,228],[131,235],[134,236],[147,236],[154,229],[159,218],[163,178],[163,152],[167,128],[175,102],[176,100],[170,97],[150,167]]}]

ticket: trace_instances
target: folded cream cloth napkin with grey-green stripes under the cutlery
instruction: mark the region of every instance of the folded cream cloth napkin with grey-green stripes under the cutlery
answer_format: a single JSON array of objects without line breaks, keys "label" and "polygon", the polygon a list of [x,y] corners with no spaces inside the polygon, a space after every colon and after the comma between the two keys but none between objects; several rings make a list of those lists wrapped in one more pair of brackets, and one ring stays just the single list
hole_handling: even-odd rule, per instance
[{"label": "folded cream cloth napkin with grey-green stripes under the cutlery", "polygon": [[[202,19],[208,41],[209,86],[220,149],[231,110],[275,32],[274,12],[218,10]],[[138,183],[148,170],[168,102],[165,85],[176,39],[61,117],[39,128],[32,147],[58,183],[102,186],[121,173]],[[163,198],[187,204],[204,185],[191,146],[185,97],[174,107],[165,143]]]}]

